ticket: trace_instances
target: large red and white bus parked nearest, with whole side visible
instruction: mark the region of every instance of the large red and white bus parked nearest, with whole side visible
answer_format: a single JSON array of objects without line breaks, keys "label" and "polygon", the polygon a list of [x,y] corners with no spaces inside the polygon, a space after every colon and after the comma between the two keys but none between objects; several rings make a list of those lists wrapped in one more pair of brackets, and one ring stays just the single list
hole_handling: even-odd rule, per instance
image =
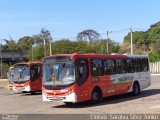
[{"label": "large red and white bus parked nearest, with whole side visible", "polygon": [[43,101],[76,103],[132,92],[151,85],[148,56],[60,54],[43,59]]}]

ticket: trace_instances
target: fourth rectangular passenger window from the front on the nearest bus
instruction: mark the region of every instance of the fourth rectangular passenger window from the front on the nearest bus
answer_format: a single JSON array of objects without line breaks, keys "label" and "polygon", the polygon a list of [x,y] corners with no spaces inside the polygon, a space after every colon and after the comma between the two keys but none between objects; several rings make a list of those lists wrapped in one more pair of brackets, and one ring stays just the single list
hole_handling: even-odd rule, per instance
[{"label": "fourth rectangular passenger window from the front on the nearest bus", "polygon": [[134,63],[133,63],[133,59],[128,58],[126,59],[126,71],[127,73],[134,73]]}]

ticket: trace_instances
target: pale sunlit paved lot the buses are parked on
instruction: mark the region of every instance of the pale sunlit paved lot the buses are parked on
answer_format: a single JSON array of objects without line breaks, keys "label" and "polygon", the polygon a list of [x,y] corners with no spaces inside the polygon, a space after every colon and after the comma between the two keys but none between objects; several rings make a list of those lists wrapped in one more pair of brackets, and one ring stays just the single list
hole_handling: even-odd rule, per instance
[{"label": "pale sunlit paved lot the buses are parked on", "polygon": [[152,85],[138,96],[108,97],[98,105],[83,102],[66,106],[63,102],[43,102],[41,94],[15,94],[0,89],[2,114],[160,114],[160,76],[152,76]]}]

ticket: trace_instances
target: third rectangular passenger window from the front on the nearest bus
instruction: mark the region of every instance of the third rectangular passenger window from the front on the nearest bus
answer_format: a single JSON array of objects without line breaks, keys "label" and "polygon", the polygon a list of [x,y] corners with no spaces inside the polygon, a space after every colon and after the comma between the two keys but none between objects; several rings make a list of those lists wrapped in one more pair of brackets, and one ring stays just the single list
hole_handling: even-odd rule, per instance
[{"label": "third rectangular passenger window from the front on the nearest bus", "polygon": [[117,74],[123,74],[126,72],[123,59],[116,59],[115,63],[116,63],[116,73]]}]

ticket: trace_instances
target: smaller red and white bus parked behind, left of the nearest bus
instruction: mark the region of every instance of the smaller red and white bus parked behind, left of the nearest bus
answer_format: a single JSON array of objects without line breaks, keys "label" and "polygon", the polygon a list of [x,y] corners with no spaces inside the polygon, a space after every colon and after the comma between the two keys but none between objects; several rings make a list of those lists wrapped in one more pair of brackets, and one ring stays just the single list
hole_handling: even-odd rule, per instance
[{"label": "smaller red and white bus parked behind, left of the nearest bus", "polygon": [[14,65],[13,91],[35,93],[42,90],[42,63],[28,62]]}]

